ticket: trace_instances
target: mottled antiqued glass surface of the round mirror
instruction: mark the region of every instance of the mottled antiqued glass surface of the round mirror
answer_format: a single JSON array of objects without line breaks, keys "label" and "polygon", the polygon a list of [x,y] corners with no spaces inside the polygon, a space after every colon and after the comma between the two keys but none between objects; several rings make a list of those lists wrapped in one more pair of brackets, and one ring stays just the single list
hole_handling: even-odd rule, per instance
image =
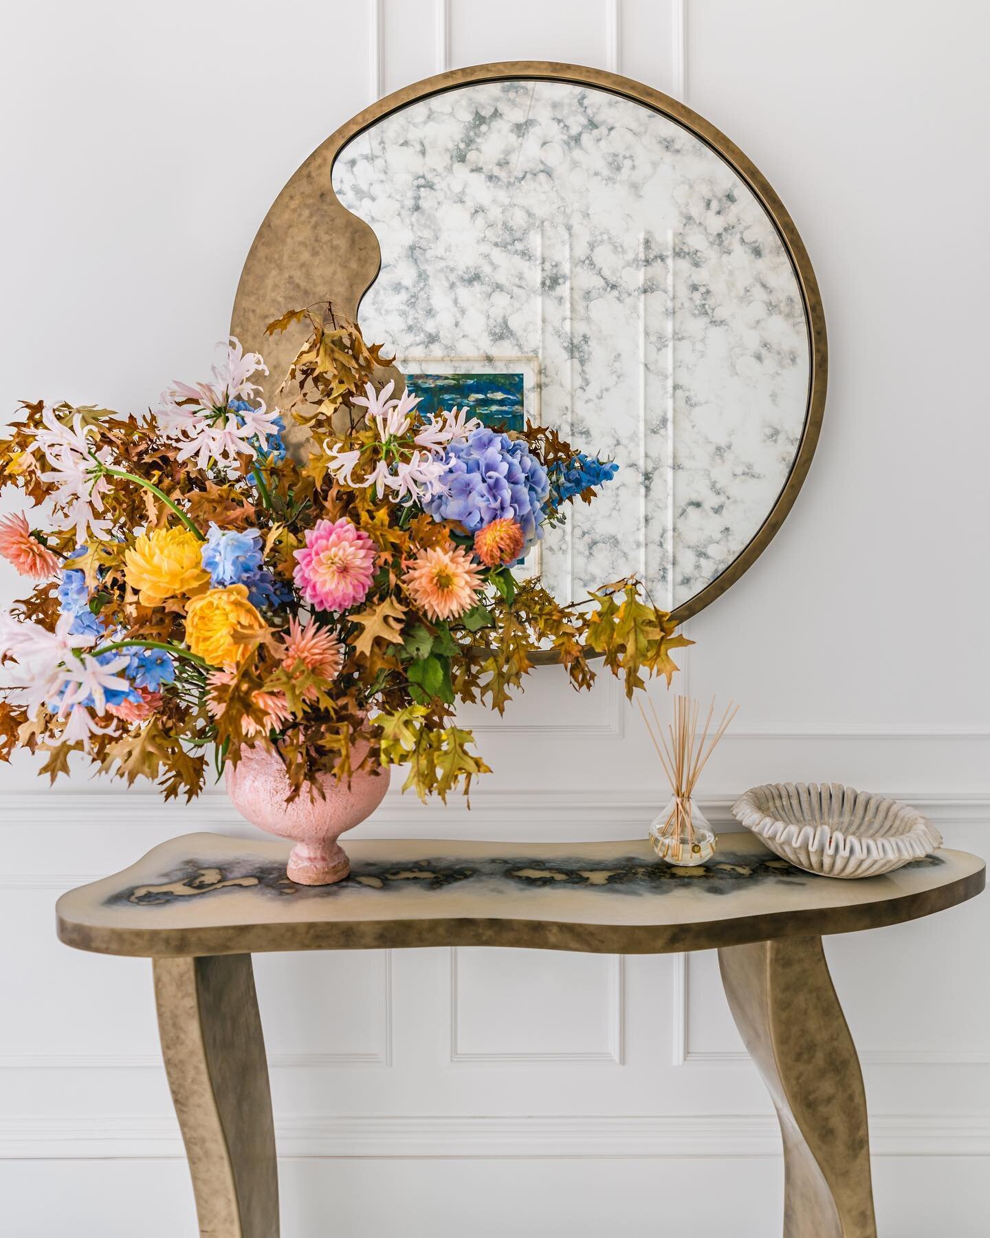
[{"label": "mottled antiqued glass surface of the round mirror", "polygon": [[384,118],[333,183],[381,245],[369,339],[407,374],[522,375],[531,420],[619,462],[546,534],[558,598],[636,572],[673,609],[730,566],[791,472],[811,354],[790,258],[729,163],[640,103],[514,79]]}]

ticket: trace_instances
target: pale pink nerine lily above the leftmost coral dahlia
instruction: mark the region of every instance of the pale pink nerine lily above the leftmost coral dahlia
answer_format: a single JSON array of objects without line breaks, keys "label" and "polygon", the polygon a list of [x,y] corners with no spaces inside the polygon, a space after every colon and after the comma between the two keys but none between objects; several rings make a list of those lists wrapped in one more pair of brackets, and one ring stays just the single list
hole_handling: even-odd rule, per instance
[{"label": "pale pink nerine lily above the leftmost coral dahlia", "polygon": [[103,511],[103,495],[110,487],[105,477],[94,472],[94,457],[103,464],[109,463],[110,448],[95,449],[90,435],[98,436],[99,428],[83,426],[82,413],[77,412],[68,426],[63,426],[51,409],[45,409],[41,417],[43,428],[35,435],[28,454],[37,448],[51,465],[38,478],[54,487],[50,495],[52,504],[75,526],[78,542],[105,539],[110,521],[97,514]]}]

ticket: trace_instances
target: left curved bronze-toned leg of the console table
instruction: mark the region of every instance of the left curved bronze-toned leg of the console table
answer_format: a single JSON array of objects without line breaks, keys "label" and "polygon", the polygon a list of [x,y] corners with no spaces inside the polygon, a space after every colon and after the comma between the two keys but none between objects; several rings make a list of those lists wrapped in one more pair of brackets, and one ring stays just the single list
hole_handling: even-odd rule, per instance
[{"label": "left curved bronze-toned leg of the console table", "polygon": [[155,1000],[203,1238],[278,1238],[269,1068],[250,954],[156,958]]}]

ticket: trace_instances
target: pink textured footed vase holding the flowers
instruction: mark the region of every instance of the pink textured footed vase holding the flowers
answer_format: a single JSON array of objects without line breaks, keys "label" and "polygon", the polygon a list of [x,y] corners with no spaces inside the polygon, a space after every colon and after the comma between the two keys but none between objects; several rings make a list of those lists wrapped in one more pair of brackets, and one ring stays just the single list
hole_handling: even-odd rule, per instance
[{"label": "pink textured footed vase holding the flowers", "polygon": [[[354,747],[355,764],[366,750]],[[390,770],[380,766],[359,770],[349,784],[321,774],[325,799],[303,787],[286,803],[291,785],[275,753],[246,748],[236,765],[226,766],[226,791],[238,812],[259,829],[295,841],[287,872],[299,885],[330,885],[348,875],[350,860],[337,839],[371,816],[389,790],[389,779]]]}]

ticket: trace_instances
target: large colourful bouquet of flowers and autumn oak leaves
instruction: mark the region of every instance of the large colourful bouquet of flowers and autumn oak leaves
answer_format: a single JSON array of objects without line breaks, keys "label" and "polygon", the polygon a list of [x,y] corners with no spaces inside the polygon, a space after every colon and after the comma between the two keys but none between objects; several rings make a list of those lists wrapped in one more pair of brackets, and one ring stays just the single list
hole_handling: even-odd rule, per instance
[{"label": "large colourful bouquet of flowers and autumn oak leaves", "polygon": [[635,578],[564,605],[514,574],[615,464],[546,427],[423,418],[333,306],[267,329],[295,323],[309,334],[276,410],[235,339],[145,416],[22,404],[0,487],[43,505],[47,531],[0,521],[0,555],[35,582],[0,615],[5,759],[42,749],[54,780],[80,753],[192,797],[210,754],[220,773],[264,745],[293,796],[405,765],[407,787],[446,797],[488,770],[455,703],[502,711],[533,647],[578,688],[592,655],[630,696],[669,682],[688,641]]}]

